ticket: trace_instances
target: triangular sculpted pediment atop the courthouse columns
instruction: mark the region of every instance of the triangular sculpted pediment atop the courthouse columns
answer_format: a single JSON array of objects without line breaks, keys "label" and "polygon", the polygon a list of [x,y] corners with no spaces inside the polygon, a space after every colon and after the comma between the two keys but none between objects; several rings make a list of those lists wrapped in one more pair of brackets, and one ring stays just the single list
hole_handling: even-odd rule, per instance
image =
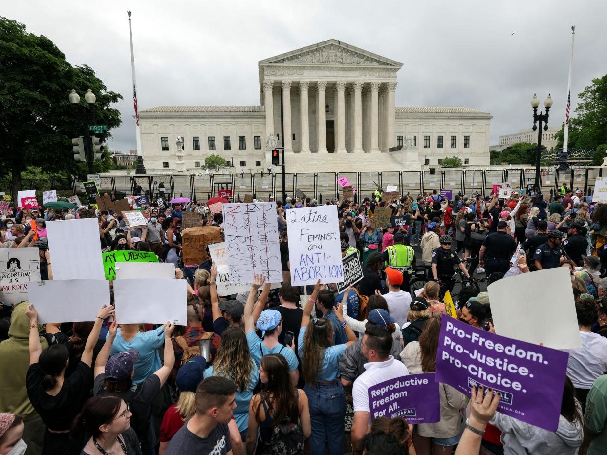
[{"label": "triangular sculpted pediment atop the courthouse columns", "polygon": [[399,69],[402,63],[382,57],[364,49],[359,49],[345,42],[330,39],[302,49],[293,50],[281,55],[267,58],[259,62],[260,66],[267,65],[346,65],[346,66],[375,66]]}]

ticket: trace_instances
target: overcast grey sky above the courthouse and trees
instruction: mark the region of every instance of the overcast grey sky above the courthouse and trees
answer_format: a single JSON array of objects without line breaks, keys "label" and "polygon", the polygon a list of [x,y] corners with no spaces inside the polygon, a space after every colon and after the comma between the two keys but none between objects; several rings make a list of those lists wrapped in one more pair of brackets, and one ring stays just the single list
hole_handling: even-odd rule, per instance
[{"label": "overcast grey sky above the courthouse and trees", "polygon": [[70,63],[91,66],[124,96],[123,126],[109,140],[123,152],[136,148],[127,10],[140,110],[259,106],[259,60],[335,38],[402,62],[396,106],[490,112],[497,144],[532,126],[534,93],[541,101],[551,93],[549,124],[563,122],[571,25],[572,107],[607,73],[605,0],[3,2],[1,15],[46,35]]}]

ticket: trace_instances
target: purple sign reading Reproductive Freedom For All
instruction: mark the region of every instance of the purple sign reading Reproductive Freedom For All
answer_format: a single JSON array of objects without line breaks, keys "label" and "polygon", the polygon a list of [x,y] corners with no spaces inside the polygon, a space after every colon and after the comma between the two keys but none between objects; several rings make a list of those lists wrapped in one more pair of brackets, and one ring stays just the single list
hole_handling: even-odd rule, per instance
[{"label": "purple sign reading Reproductive Freedom For All", "polygon": [[435,373],[396,377],[368,389],[371,420],[404,417],[409,423],[441,420],[439,383]]}]

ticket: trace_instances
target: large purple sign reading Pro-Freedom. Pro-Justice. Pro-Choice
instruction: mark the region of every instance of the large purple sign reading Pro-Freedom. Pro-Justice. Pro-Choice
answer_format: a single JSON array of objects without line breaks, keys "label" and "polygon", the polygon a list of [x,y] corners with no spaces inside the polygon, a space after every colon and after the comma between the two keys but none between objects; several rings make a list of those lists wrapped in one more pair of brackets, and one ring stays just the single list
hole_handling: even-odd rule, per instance
[{"label": "large purple sign reading Pro-Freedom. Pro-Justice. Pro-Choice", "polygon": [[501,393],[498,411],[548,431],[558,427],[569,354],[502,337],[444,317],[436,380],[470,396],[481,384]]}]

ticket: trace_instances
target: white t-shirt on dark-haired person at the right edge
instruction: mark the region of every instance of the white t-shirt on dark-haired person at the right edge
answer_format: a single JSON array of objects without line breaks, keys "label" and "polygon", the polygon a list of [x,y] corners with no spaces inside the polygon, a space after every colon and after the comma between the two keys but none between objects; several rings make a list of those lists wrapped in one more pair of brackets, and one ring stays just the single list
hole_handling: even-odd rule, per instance
[{"label": "white t-shirt on dark-haired person at the right edge", "polygon": [[607,338],[581,330],[580,337],[582,348],[563,349],[569,352],[567,376],[576,388],[590,389],[594,381],[607,371]]}]

